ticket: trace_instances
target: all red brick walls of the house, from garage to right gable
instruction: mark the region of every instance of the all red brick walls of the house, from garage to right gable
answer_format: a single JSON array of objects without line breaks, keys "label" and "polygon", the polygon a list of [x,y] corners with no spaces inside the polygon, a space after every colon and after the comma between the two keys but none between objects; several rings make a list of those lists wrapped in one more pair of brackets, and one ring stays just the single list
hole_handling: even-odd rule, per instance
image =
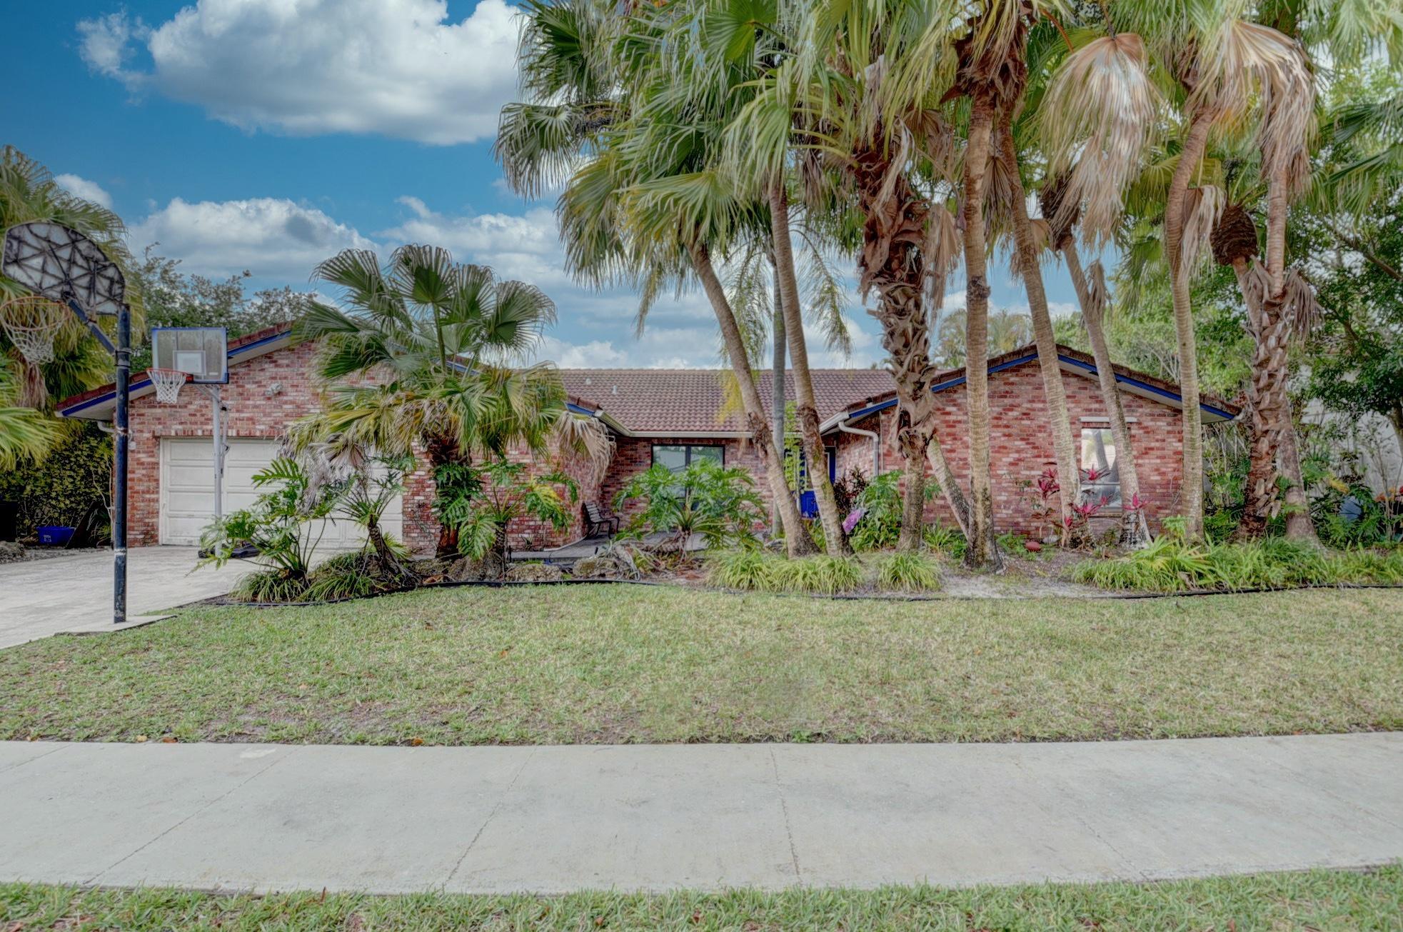
[{"label": "all red brick walls of the house, from garage to right gable", "polygon": [[[229,385],[223,394],[229,407],[229,437],[281,437],[288,425],[320,407],[316,383],[311,378],[311,354],[314,347],[304,344],[258,357],[230,368]],[[279,383],[281,390],[269,394],[268,389]],[[1083,427],[1082,417],[1104,415],[1100,392],[1092,379],[1063,373],[1068,392],[1068,407],[1075,431]],[[951,467],[968,488],[968,451],[965,438],[965,394],[964,387],[941,392],[940,396],[940,439],[950,458]],[[1134,394],[1122,394],[1127,415],[1135,418],[1131,434],[1135,438],[1136,465],[1141,476],[1141,491],[1149,500],[1148,515],[1156,519],[1176,512],[1180,480],[1180,420],[1179,411]],[[1047,410],[1042,401],[1042,383],[1037,365],[1023,365],[996,372],[989,379],[989,403],[993,408],[993,490],[995,521],[1000,529],[1028,532],[1026,507],[1020,501],[1019,483],[1031,480],[1052,465],[1052,442],[1047,431]],[[871,415],[856,427],[878,430],[882,435],[882,469],[901,469],[901,453],[892,444],[894,408]],[[1099,425],[1099,424],[1097,424]],[[132,453],[130,453],[130,517],[129,535],[133,546],[157,543],[160,519],[160,438],[163,437],[209,437],[209,400],[203,393],[187,387],[174,406],[157,404],[147,396],[132,403]],[[828,438],[838,446],[838,470],[853,466],[864,473],[871,472],[871,441],[852,434],[836,434]],[[759,452],[739,439],[687,439],[687,438],[616,438],[616,452],[603,481],[595,483],[591,470],[584,463],[567,465],[579,483],[582,501],[599,501],[613,507],[615,497],[630,476],[652,465],[654,444],[721,444],[725,446],[725,462],[731,466],[745,466],[756,476],[756,491],[769,507],[769,486],[765,481],[763,463]],[[529,453],[512,456],[518,462],[530,462]],[[421,456],[421,467],[407,477],[404,495],[404,536],[415,550],[431,550],[438,539],[438,524],[432,515],[434,480]],[[542,458],[535,469],[549,472],[553,458]],[[547,547],[575,539],[581,532],[579,505],[571,507],[571,525],[560,532],[535,519],[525,519],[512,526],[512,546],[525,545]],[[953,521],[943,500],[932,502],[927,518],[940,517]]]}]

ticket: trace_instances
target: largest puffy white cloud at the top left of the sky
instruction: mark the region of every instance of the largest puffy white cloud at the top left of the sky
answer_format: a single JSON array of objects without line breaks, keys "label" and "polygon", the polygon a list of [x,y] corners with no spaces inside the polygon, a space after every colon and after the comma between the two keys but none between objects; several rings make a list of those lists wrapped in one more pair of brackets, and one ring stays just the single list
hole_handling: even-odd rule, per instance
[{"label": "largest puffy white cloud at the top left of the sky", "polygon": [[[495,133],[516,88],[504,0],[460,22],[446,0],[196,0],[156,27],[115,13],[79,35],[95,72],[247,131],[474,142]],[[128,67],[136,42],[150,70]]]}]

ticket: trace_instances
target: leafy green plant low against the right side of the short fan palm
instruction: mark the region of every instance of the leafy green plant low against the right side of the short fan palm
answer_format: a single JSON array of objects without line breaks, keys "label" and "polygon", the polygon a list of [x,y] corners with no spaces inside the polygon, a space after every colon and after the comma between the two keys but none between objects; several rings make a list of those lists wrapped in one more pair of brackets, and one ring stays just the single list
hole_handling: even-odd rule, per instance
[{"label": "leafy green plant low against the right side of the short fan palm", "polygon": [[457,532],[463,556],[484,561],[495,574],[506,573],[508,532],[521,518],[535,518],[557,531],[570,525],[579,487],[561,472],[535,473],[529,463],[497,456],[485,463],[441,463],[434,480],[446,494],[435,498],[434,511],[445,528]]}]

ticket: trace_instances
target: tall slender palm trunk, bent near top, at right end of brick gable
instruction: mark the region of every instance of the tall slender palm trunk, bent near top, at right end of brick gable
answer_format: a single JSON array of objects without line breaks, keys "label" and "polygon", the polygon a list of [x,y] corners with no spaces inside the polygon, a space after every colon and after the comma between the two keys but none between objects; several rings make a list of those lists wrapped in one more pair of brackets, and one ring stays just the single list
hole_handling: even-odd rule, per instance
[{"label": "tall slender palm trunk, bent near top, at right end of brick gable", "polygon": [[1204,536],[1204,425],[1198,407],[1198,347],[1194,340],[1194,309],[1188,295],[1190,269],[1181,267],[1180,254],[1184,243],[1188,180],[1204,157],[1211,125],[1211,114],[1205,111],[1194,114],[1164,201],[1164,255],[1169,260],[1170,291],[1174,299],[1184,428],[1180,504],[1184,512],[1184,536],[1190,540],[1201,540]]}]

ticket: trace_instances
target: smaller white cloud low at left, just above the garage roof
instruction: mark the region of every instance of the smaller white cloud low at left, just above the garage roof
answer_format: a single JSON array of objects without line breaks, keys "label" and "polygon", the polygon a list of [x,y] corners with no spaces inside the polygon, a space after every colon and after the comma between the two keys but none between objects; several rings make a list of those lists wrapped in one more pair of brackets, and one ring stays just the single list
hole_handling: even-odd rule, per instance
[{"label": "smaller white cloud low at left, just above the garage roof", "polygon": [[181,260],[189,272],[250,269],[292,282],[307,281],[317,262],[344,248],[379,250],[321,211],[278,198],[198,204],[175,198],[133,226],[129,239],[137,250],[160,243],[159,251]]}]

